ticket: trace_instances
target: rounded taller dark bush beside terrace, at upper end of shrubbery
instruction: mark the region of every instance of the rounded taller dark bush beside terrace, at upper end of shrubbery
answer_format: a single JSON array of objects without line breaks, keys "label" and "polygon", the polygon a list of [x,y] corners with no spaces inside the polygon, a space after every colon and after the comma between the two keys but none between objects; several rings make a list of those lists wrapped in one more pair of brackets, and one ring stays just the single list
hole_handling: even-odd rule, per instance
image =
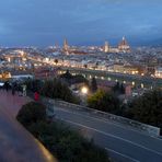
[{"label": "rounded taller dark bush beside terrace, at upper end of shrubbery", "polygon": [[28,127],[33,123],[46,120],[46,107],[40,103],[30,102],[22,106],[16,119],[25,127]]}]

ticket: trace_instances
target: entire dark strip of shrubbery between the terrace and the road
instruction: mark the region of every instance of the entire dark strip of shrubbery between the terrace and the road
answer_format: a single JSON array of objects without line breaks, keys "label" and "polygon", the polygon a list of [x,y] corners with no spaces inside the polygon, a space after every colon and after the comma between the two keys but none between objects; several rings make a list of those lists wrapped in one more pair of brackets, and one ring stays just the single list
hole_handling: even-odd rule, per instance
[{"label": "entire dark strip of shrubbery between the terrace and the road", "polygon": [[55,120],[48,123],[45,107],[31,102],[19,112],[23,124],[60,162],[108,162],[107,152],[83,138],[67,125]]}]

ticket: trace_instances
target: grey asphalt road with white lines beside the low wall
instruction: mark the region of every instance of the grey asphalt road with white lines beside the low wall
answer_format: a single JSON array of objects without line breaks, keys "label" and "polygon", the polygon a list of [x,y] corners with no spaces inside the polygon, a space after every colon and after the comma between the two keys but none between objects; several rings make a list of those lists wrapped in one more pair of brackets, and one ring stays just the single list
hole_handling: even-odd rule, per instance
[{"label": "grey asphalt road with white lines beside the low wall", "polygon": [[105,148],[116,161],[162,162],[162,140],[89,113],[55,107],[56,117]]}]

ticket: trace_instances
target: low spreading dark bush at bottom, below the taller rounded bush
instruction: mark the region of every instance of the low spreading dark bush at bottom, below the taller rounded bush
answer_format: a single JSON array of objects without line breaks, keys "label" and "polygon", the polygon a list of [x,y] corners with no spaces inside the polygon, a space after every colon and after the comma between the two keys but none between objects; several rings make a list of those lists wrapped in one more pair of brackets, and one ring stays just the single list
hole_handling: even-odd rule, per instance
[{"label": "low spreading dark bush at bottom, below the taller rounded bush", "polygon": [[62,123],[36,123],[30,131],[60,162],[108,162],[107,152]]}]

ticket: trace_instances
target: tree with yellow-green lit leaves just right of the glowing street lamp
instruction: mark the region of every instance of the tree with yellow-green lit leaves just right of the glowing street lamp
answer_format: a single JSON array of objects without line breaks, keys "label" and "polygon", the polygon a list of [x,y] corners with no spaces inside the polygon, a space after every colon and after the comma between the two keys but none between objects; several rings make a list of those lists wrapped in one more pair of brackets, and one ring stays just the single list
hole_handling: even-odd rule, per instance
[{"label": "tree with yellow-green lit leaves just right of the glowing street lamp", "polygon": [[102,90],[96,91],[88,99],[88,105],[91,108],[117,114],[120,111],[120,102],[113,93]]}]

